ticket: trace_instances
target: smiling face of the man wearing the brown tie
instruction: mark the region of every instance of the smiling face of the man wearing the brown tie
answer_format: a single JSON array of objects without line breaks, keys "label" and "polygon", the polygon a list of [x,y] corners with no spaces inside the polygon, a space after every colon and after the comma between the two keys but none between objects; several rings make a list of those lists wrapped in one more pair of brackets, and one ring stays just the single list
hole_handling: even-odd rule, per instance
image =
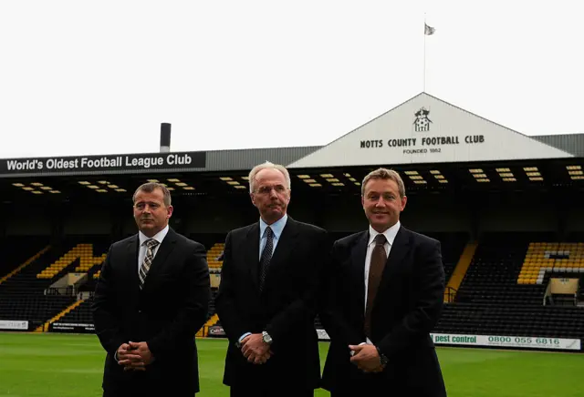
[{"label": "smiling face of the man wearing the brown tie", "polygon": [[364,188],[361,204],[370,225],[382,233],[400,220],[407,198],[400,197],[398,184],[391,179],[370,179]]}]

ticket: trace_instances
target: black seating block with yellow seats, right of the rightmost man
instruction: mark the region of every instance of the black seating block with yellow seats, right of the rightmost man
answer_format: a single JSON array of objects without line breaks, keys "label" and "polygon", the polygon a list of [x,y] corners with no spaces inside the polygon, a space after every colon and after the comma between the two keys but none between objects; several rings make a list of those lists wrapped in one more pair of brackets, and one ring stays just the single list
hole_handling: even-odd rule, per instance
[{"label": "black seating block with yellow seats, right of the rightmost man", "polygon": [[[548,280],[565,277],[563,267],[539,275],[529,273],[526,263],[534,249],[574,247],[540,233],[485,235],[476,249],[454,303],[444,306],[435,328],[439,333],[584,338],[582,308],[572,304],[544,305]],[[550,241],[541,243],[538,241]],[[576,247],[579,247],[576,243]],[[522,273],[523,271],[523,273]],[[581,273],[578,274],[581,277]],[[580,283],[581,289],[581,283]]]}]

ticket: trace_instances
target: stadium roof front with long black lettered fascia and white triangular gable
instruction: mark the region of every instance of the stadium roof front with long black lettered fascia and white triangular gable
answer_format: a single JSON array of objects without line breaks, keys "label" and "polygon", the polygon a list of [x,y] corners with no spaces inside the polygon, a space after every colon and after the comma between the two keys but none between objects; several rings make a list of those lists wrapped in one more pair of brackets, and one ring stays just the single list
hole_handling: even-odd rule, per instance
[{"label": "stadium roof front with long black lettered fascia and white triangular gable", "polygon": [[584,158],[584,134],[528,137],[421,93],[322,147],[13,158],[0,160],[0,177],[248,171],[266,160],[334,168],[544,158]]}]

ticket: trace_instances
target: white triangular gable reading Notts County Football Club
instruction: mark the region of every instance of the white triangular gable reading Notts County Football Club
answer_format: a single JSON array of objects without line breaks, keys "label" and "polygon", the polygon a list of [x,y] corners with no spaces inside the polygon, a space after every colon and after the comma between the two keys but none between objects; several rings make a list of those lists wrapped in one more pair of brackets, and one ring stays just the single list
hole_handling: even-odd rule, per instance
[{"label": "white triangular gable reading Notts County Football Club", "polygon": [[422,93],[288,167],[572,157],[568,152]]}]

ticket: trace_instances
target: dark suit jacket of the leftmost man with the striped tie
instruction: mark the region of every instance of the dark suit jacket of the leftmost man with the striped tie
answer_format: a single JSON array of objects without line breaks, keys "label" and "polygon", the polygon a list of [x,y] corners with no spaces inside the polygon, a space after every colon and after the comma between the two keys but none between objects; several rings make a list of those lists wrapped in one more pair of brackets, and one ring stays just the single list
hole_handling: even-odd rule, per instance
[{"label": "dark suit jacket of the leftmost man with the striped tie", "polygon": [[[95,329],[108,353],[103,389],[151,395],[172,387],[172,395],[193,395],[199,391],[194,335],[207,319],[210,298],[206,251],[169,229],[141,290],[138,245],[135,235],[110,247],[95,290]],[[148,343],[155,360],[146,372],[124,372],[115,361],[128,341]]]}]

